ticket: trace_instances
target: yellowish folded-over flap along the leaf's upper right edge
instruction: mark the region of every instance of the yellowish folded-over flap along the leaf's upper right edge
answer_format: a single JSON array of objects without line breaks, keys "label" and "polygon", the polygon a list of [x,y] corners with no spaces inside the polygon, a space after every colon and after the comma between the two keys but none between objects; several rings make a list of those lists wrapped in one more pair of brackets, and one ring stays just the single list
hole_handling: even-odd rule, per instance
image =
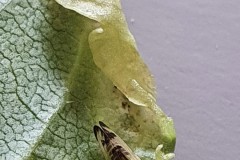
[{"label": "yellowish folded-over flap along the leaf's upper right edge", "polygon": [[89,45],[94,62],[113,84],[137,105],[156,103],[152,76],[137,52],[119,0],[56,1],[99,23],[89,35]]}]

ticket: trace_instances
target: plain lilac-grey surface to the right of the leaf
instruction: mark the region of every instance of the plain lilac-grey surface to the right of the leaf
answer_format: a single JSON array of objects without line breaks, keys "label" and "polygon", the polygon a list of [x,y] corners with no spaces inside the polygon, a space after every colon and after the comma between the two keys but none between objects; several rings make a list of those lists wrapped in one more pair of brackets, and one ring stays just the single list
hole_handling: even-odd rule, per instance
[{"label": "plain lilac-grey surface to the right of the leaf", "polygon": [[176,160],[240,159],[240,1],[122,5],[158,104],[174,118]]}]

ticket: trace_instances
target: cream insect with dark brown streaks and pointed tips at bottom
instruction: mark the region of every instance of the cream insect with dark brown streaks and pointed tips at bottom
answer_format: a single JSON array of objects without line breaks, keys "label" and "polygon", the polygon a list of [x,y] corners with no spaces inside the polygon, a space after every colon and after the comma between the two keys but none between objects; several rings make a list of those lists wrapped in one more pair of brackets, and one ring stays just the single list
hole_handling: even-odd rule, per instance
[{"label": "cream insect with dark brown streaks and pointed tips at bottom", "polygon": [[140,160],[127,144],[103,122],[93,127],[106,160]]}]

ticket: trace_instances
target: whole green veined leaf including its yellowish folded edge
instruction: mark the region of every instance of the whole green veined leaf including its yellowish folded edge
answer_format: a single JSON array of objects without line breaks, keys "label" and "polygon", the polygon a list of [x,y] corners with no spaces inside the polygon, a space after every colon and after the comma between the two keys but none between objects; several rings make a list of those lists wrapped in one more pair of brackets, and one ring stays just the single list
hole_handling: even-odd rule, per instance
[{"label": "whole green veined leaf including its yellowish folded edge", "polygon": [[0,159],[104,160],[99,121],[142,160],[174,157],[120,2],[0,0]]}]

